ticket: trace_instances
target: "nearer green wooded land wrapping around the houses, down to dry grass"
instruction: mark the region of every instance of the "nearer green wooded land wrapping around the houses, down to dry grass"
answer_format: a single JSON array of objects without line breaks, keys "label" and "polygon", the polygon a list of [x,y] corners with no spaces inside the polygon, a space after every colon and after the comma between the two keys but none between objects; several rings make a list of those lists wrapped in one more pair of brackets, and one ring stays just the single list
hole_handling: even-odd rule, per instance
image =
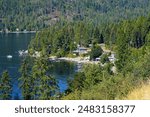
[{"label": "nearer green wooded land wrapping around the houses, down to dry grass", "polygon": [[[84,22],[55,25],[36,34],[29,52],[41,52],[44,58],[51,55],[64,57],[71,54],[77,44],[88,47],[92,43],[105,43],[115,51],[117,60],[114,64],[106,61],[104,66],[101,63],[86,64],[74,79],[70,79],[61,99],[122,99],[141,82],[149,81],[149,17],[102,27]],[[112,73],[112,66],[117,68],[116,73]]]}]

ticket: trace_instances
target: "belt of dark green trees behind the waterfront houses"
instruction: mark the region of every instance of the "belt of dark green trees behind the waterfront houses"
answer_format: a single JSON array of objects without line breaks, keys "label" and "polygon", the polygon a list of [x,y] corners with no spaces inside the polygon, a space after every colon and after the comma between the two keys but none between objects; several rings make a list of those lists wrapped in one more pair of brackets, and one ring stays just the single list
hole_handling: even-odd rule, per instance
[{"label": "belt of dark green trees behind the waterfront houses", "polygon": [[[130,54],[130,48],[140,48],[148,41],[150,27],[149,18],[140,17],[136,20],[110,23],[94,27],[91,22],[73,22],[57,24],[51,28],[42,30],[32,40],[29,50],[41,51],[44,55],[56,55],[58,57],[71,54],[77,45],[89,47],[89,44],[105,42],[106,46],[113,51],[118,51],[118,57],[123,61]],[[99,57],[97,46],[93,46],[95,56]],[[99,48],[100,49],[100,48]],[[101,50],[101,49],[100,49]],[[119,52],[120,51],[120,52]],[[32,52],[33,53],[33,52]],[[126,53],[126,54],[124,54]],[[93,56],[93,54],[91,56]],[[124,55],[123,55],[124,54]],[[93,56],[91,59],[95,59]],[[120,60],[120,59],[118,59]],[[126,63],[122,63],[121,69]]]}]

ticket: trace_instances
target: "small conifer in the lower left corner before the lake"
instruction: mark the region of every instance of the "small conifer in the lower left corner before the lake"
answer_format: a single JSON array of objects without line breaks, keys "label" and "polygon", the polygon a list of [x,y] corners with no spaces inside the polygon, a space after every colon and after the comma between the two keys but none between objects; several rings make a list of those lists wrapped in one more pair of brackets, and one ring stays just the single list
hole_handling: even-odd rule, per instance
[{"label": "small conifer in the lower left corner before the lake", "polygon": [[4,71],[0,77],[0,99],[12,99],[12,83],[8,71]]}]

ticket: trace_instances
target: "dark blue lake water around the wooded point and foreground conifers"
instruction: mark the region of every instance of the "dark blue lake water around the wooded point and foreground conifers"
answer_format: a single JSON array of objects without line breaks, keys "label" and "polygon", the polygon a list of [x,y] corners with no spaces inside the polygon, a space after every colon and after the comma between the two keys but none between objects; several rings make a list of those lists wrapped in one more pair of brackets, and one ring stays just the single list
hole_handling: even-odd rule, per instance
[{"label": "dark blue lake water around the wooded point and foreground conifers", "polygon": [[[8,70],[13,83],[13,99],[21,99],[21,90],[18,86],[18,78],[22,57],[19,57],[19,50],[26,50],[30,40],[35,34],[2,34],[0,33],[0,74],[4,70]],[[12,58],[8,59],[7,55]],[[72,77],[77,66],[75,63],[69,62],[52,62],[51,74],[56,77],[60,91],[67,89],[67,78]]]}]

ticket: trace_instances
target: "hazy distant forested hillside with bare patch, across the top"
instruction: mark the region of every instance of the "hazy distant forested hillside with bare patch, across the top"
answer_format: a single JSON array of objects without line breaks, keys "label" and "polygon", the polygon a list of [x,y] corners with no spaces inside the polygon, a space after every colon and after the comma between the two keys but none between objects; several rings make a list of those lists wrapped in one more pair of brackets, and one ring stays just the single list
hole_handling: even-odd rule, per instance
[{"label": "hazy distant forested hillside with bare patch, across the top", "polygon": [[117,22],[148,15],[149,0],[0,0],[0,30],[38,30],[64,21]]}]

